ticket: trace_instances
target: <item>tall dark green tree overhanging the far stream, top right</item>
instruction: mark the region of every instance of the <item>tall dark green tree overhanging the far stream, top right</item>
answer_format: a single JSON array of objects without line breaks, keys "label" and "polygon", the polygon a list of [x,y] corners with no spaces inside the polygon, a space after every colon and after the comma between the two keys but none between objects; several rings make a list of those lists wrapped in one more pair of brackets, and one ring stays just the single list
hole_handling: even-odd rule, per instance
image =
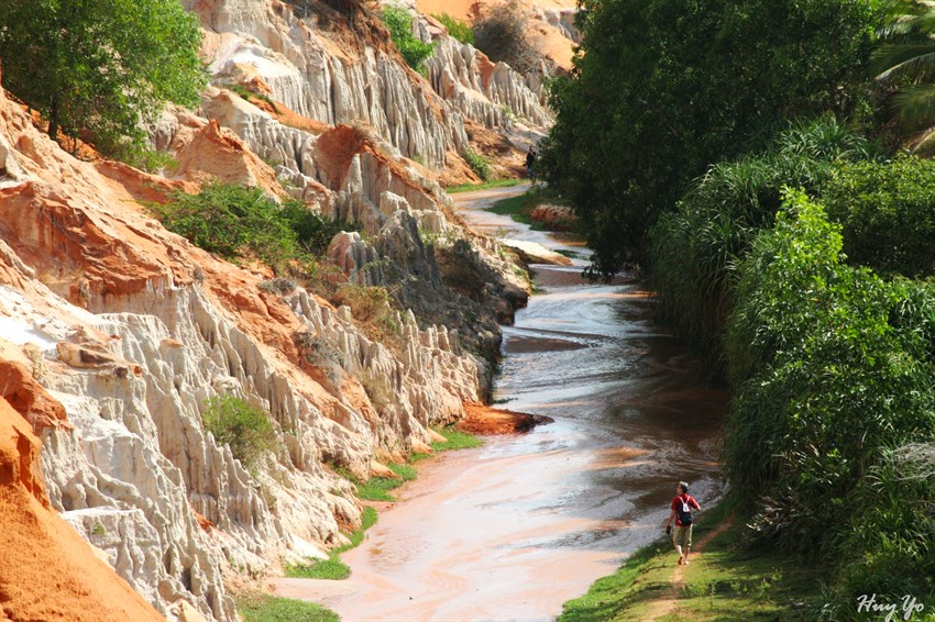
[{"label": "tall dark green tree overhanging the far stream, top right", "polygon": [[777,122],[861,103],[869,0],[584,0],[583,54],[552,89],[542,151],[608,275],[691,179],[769,140]]}]

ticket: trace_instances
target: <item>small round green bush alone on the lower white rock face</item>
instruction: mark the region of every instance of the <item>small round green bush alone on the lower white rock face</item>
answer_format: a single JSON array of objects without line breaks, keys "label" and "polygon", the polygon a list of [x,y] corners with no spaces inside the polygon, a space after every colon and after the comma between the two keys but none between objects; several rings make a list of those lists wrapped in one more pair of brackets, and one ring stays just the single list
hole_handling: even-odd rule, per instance
[{"label": "small round green bush alone on the lower white rock face", "polygon": [[221,396],[209,399],[201,419],[218,445],[230,445],[233,456],[249,470],[273,448],[276,436],[268,414],[241,398]]}]

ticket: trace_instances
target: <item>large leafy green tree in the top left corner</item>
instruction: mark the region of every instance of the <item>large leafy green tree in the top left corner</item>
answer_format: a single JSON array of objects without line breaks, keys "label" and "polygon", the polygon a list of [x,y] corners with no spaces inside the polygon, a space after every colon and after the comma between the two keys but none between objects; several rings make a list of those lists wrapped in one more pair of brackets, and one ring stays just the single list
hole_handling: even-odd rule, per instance
[{"label": "large leafy green tree in the top left corner", "polygon": [[178,0],[4,0],[6,87],[59,131],[106,151],[139,146],[166,101],[206,84],[198,20]]}]

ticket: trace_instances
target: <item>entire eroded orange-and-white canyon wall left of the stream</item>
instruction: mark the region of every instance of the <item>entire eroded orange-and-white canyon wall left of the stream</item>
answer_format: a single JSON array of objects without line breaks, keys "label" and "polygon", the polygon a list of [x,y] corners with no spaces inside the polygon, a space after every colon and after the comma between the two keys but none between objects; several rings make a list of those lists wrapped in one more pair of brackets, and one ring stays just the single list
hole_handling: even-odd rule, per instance
[{"label": "entire eroded orange-and-white canyon wall left of the stream", "polygon": [[[334,467],[365,478],[426,451],[432,426],[483,400],[491,369],[479,354],[496,351],[497,321],[525,303],[528,284],[496,241],[460,223],[437,179],[463,168],[465,119],[506,136],[506,107],[530,126],[550,116],[524,77],[442,32],[427,80],[365,12],[305,0],[187,5],[216,86],[198,110],[172,110],[153,129],[179,163],[168,178],[75,159],[0,90],[0,373],[15,369],[3,397],[19,413],[0,402],[0,421],[29,421],[44,474],[40,482],[35,438],[11,423],[25,457],[4,445],[0,467],[19,460],[29,477],[0,485],[55,524],[43,532],[52,540],[64,524],[51,510],[61,512],[162,615],[234,620],[230,577],[322,556],[359,523]],[[392,290],[394,343],[316,291],[264,287],[267,269],[218,259],[146,207],[211,179],[355,223],[328,254],[352,281]],[[270,413],[275,449],[255,468],[206,431],[218,396]],[[13,514],[2,515],[6,530]],[[109,571],[98,566],[88,577]],[[0,589],[13,580],[0,576]],[[124,596],[108,607],[125,615],[98,619],[153,617],[129,613],[145,607]],[[16,607],[4,613],[32,615]]]}]

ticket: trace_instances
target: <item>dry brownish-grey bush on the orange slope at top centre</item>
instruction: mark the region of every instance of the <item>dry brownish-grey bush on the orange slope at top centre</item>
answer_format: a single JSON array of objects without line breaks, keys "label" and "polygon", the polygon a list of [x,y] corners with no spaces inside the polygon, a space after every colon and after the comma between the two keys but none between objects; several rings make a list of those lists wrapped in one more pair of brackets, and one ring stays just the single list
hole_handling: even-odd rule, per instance
[{"label": "dry brownish-grey bush on the orange slope at top centre", "polygon": [[542,53],[529,38],[528,18],[516,0],[492,7],[474,21],[477,49],[495,63],[506,63],[520,74],[528,74],[542,60]]}]

